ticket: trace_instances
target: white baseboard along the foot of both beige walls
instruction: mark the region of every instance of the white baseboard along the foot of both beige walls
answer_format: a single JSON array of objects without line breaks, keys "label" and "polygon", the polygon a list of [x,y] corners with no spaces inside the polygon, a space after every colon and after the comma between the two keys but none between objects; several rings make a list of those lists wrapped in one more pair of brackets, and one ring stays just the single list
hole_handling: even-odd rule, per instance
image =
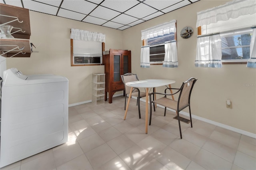
[{"label": "white baseboard along the foot of both beige walls", "polygon": [[[119,95],[113,95],[113,97],[117,97],[117,96],[121,96],[123,94],[119,94]],[[133,99],[137,99],[136,97],[132,97]],[[144,103],[146,103],[146,100],[145,99],[140,99],[140,101],[143,101]],[[68,107],[72,107],[72,106],[76,106],[76,105],[82,105],[84,103],[90,103],[92,102],[92,100],[88,100],[88,101],[83,101],[83,102],[79,102],[79,103],[74,103],[74,104],[70,104],[68,105]],[[163,106],[160,106],[158,105],[158,107],[161,107],[161,108],[164,108]],[[172,109],[168,109],[167,110],[169,111],[174,111]],[[175,112],[175,111],[174,111]],[[185,116],[188,116],[189,117],[189,113],[186,113],[184,111],[180,111],[180,114],[181,115],[185,115]],[[210,123],[212,125],[215,125],[215,126],[218,126],[218,127],[222,127],[222,128],[225,128],[225,129],[228,129],[228,130],[231,130],[233,132],[237,132],[237,133],[240,133],[240,134],[244,134],[246,136],[249,136],[249,137],[252,137],[252,138],[256,138],[256,134],[254,133],[251,133],[251,132],[247,132],[245,130],[241,130],[241,129],[238,129],[238,128],[234,128],[234,127],[231,127],[231,126],[228,126],[228,125],[224,125],[222,123],[218,123],[218,122],[215,122],[215,121],[211,121],[209,119],[205,119],[203,117],[199,117],[199,116],[196,116],[196,115],[191,115],[193,119],[197,119],[199,121],[203,121],[203,122],[206,122],[206,123]]]}]

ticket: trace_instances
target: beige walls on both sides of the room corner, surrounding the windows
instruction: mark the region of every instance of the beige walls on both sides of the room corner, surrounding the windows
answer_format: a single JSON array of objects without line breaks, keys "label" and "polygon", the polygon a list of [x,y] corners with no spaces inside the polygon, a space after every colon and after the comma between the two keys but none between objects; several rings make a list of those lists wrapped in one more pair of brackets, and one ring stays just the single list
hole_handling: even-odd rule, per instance
[{"label": "beige walls on both sides of the room corner, surrounding the windows", "polygon": [[[38,12],[30,12],[31,42],[36,45],[30,58],[8,58],[7,68],[16,67],[24,74],[54,73],[69,79],[69,104],[91,100],[92,73],[103,73],[104,66],[70,66],[70,28],[106,34],[106,50],[132,51],[132,72],[140,79],[174,79],[172,87],[180,87],[190,77],[198,78],[192,92],[192,114],[256,134],[256,87],[243,84],[256,83],[256,69],[244,64],[223,65],[223,68],[196,68],[196,12],[225,4],[228,1],[201,0],[184,8],[154,18],[124,31],[68,20]],[[141,30],[177,20],[178,68],[162,65],[140,67]],[[194,28],[194,35],[182,39],[185,26]],[[163,88],[162,88],[163,89]],[[158,91],[162,91],[161,88]],[[119,94],[119,93],[117,93]],[[177,97],[176,97],[177,98]],[[226,99],[233,108],[226,108]],[[188,113],[188,109],[184,110]]]}]

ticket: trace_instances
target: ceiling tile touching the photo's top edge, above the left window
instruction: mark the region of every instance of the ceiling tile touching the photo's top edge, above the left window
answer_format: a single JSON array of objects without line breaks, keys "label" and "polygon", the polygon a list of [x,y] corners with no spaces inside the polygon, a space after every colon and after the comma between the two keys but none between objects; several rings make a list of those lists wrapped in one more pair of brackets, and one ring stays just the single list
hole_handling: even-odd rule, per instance
[{"label": "ceiling tile touching the photo's top edge, above the left window", "polygon": [[85,0],[64,0],[60,8],[79,12],[82,14],[89,14],[97,5]]}]

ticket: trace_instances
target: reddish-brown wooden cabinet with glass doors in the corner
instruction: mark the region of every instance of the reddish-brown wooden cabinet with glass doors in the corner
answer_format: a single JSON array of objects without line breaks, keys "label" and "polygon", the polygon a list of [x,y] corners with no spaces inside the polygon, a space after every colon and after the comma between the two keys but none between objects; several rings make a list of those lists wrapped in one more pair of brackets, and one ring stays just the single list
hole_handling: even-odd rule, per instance
[{"label": "reddish-brown wooden cabinet with glass doors in the corner", "polygon": [[[105,65],[105,101],[112,103],[112,97],[117,91],[124,91],[124,83],[121,75],[130,73],[131,51],[121,49],[110,49],[107,55],[103,57]],[[107,95],[108,94],[108,95]]]}]

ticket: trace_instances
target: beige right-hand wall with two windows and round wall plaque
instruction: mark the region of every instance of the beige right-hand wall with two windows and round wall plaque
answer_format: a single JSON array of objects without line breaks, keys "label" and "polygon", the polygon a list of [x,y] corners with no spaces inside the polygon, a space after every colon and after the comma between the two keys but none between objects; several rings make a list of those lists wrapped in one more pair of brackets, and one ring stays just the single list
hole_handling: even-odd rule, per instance
[{"label": "beige right-hand wall with two windows and round wall plaque", "polygon": [[[174,79],[172,87],[180,87],[190,77],[198,78],[191,98],[192,114],[231,127],[256,133],[256,87],[243,84],[256,83],[256,69],[245,64],[223,65],[223,68],[197,68],[196,58],[196,12],[225,4],[228,1],[201,0],[123,31],[124,47],[132,51],[132,72],[139,79]],[[177,20],[178,68],[164,68],[162,65],[140,67],[141,30],[157,24]],[[185,26],[194,29],[194,35],[182,39],[180,31]],[[158,89],[158,91],[161,91]],[[177,96],[176,96],[177,98]],[[232,101],[233,108],[226,108],[226,100]],[[184,110],[189,113],[188,109]]]}]

